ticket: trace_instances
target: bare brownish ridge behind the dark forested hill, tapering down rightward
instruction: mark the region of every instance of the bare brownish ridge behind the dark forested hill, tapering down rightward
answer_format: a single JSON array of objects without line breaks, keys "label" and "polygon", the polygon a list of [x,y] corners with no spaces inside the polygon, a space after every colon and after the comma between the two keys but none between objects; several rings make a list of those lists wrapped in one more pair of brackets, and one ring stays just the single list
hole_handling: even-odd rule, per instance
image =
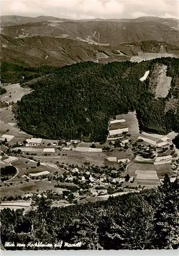
[{"label": "bare brownish ridge behind the dark forested hill, tapering down rightward", "polygon": [[[14,39],[1,35],[1,46],[2,61],[27,67],[42,65],[62,67],[80,61],[100,61],[108,57],[114,57],[115,60],[127,59],[119,53],[114,54],[110,47],[90,45],[83,41],[66,38],[34,36]],[[104,54],[100,56],[99,53]],[[131,55],[134,54],[137,52],[131,52]]]}]

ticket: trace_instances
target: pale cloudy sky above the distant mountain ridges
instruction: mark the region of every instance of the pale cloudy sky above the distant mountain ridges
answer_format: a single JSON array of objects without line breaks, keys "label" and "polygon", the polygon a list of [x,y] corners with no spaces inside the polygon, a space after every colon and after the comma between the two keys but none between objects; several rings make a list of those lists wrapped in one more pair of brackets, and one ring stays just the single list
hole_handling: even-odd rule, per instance
[{"label": "pale cloudy sky above the distant mountain ridges", "polygon": [[2,15],[39,15],[59,18],[178,18],[177,0],[1,0]]}]

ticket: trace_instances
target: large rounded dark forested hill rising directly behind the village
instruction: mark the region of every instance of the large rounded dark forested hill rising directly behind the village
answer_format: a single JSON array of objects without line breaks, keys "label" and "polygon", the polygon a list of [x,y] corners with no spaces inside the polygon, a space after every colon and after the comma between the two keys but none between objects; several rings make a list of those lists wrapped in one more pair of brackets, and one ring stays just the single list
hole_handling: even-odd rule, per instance
[{"label": "large rounded dark forested hill rising directly behind the village", "polygon": [[[58,69],[31,84],[34,89],[17,102],[19,126],[46,138],[88,137],[105,141],[108,121],[117,114],[136,110],[141,130],[166,134],[179,131],[179,110],[164,112],[167,99],[155,99],[145,71],[160,62],[168,66],[172,87],[168,97],[178,98],[178,59],[160,58],[140,63],[84,62]],[[150,75],[150,74],[149,74]]]}]

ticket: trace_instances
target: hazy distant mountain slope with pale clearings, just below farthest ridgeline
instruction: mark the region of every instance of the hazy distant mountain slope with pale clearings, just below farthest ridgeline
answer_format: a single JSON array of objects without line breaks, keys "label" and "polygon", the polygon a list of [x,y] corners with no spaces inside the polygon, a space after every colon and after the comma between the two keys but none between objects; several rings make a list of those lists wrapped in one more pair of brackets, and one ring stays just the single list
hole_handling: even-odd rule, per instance
[{"label": "hazy distant mountain slope with pale clearings, just below farthest ridgeline", "polygon": [[178,32],[163,24],[149,22],[38,22],[5,26],[1,31],[14,38],[29,36],[65,37],[90,44],[118,45],[131,41],[165,41],[178,44]]}]

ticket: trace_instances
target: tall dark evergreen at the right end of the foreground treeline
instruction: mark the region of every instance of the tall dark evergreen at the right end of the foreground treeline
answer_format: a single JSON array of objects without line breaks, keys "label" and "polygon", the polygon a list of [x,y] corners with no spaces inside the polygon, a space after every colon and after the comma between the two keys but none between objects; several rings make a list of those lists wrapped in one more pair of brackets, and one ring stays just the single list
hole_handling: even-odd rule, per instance
[{"label": "tall dark evergreen at the right end of the foreground treeline", "polygon": [[177,249],[179,247],[179,183],[170,182],[165,175],[158,188],[159,200],[154,215],[153,245],[156,249]]}]

